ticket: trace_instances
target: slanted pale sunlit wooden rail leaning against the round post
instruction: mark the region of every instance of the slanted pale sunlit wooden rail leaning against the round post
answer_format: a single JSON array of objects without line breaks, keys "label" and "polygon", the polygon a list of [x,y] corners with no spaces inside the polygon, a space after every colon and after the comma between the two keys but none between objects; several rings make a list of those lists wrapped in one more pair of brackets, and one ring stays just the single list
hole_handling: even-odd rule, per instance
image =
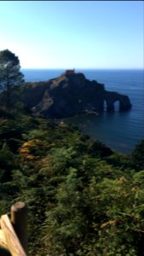
[{"label": "slanted pale sunlit wooden rail leaning against the round post", "polygon": [[12,256],[26,256],[7,214],[1,217],[1,227]]}]

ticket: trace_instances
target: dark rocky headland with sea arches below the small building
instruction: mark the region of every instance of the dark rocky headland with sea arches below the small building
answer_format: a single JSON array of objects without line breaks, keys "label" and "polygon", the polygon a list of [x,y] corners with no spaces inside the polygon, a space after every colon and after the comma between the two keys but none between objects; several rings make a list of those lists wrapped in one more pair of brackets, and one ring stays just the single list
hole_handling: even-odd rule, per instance
[{"label": "dark rocky headland with sea arches below the small building", "polygon": [[119,102],[119,110],[131,108],[128,96],[105,90],[104,84],[90,81],[83,73],[63,74],[56,79],[28,83],[24,86],[23,102],[35,114],[46,118],[66,118],[82,113],[114,110],[114,102]]}]

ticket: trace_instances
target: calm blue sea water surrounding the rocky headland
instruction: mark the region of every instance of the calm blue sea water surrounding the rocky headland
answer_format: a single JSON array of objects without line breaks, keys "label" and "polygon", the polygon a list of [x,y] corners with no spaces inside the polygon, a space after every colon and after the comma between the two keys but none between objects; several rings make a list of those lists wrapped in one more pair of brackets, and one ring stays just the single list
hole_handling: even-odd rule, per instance
[{"label": "calm blue sea water surrounding the rocky headland", "polygon": [[[43,81],[54,79],[63,69],[22,69],[26,81]],[[101,140],[113,150],[124,154],[130,153],[137,143],[144,139],[144,76],[143,70],[101,70],[79,69],[87,79],[95,79],[105,84],[105,89],[117,91],[130,96],[132,108],[127,112],[118,111],[118,102],[115,102],[113,113],[99,115],[82,115],[67,119],[68,122],[78,125],[84,133],[94,139]]]}]

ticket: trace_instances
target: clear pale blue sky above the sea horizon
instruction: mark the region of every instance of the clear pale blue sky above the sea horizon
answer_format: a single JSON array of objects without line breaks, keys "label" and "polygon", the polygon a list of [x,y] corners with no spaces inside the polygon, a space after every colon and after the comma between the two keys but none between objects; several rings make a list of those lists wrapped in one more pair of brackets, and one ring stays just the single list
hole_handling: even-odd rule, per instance
[{"label": "clear pale blue sky above the sea horizon", "polygon": [[142,1],[0,1],[0,50],[22,68],[143,68]]}]

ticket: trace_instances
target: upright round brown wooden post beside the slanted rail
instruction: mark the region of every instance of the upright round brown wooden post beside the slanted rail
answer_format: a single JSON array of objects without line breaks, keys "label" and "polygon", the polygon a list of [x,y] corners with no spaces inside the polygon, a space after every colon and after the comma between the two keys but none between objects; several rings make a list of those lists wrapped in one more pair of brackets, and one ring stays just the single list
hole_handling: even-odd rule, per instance
[{"label": "upright round brown wooden post beside the slanted rail", "polygon": [[24,202],[18,201],[11,207],[11,223],[21,246],[24,248],[26,255],[28,255],[27,207]]}]

